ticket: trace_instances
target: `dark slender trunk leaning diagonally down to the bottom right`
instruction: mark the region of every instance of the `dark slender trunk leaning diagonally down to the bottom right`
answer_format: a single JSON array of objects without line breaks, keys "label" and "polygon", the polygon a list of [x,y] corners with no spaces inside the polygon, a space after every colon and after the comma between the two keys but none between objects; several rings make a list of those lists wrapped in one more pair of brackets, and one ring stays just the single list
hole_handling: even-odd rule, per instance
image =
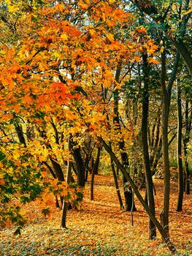
[{"label": "dark slender trunk leaning diagonally down to the bottom right", "polygon": [[120,164],[119,160],[117,159],[117,157],[115,157],[115,154],[112,152],[110,146],[108,146],[107,143],[105,143],[105,141],[102,138],[98,137],[98,140],[103,144],[105,150],[107,151],[108,154],[110,154],[110,157],[115,162],[115,164],[120,169],[120,171],[123,173],[123,175],[126,176],[128,182],[131,184],[131,187],[134,190],[134,193],[137,196],[139,202],[142,203],[142,206],[145,208],[145,211],[147,211],[147,214],[149,215],[150,219],[152,219],[153,223],[158,228],[158,231],[161,233],[161,236],[162,236],[164,242],[166,243],[166,246],[168,246],[170,252],[176,252],[176,249],[175,249],[174,245],[172,244],[172,242],[170,241],[168,234],[165,232],[164,228],[161,226],[161,224],[155,218],[152,211],[150,211],[150,208],[145,203],[145,200],[143,200],[142,195],[140,194],[139,190],[137,189],[137,186],[134,184],[134,181],[132,180],[131,176],[129,176],[128,170],[126,170],[126,168]]}]

